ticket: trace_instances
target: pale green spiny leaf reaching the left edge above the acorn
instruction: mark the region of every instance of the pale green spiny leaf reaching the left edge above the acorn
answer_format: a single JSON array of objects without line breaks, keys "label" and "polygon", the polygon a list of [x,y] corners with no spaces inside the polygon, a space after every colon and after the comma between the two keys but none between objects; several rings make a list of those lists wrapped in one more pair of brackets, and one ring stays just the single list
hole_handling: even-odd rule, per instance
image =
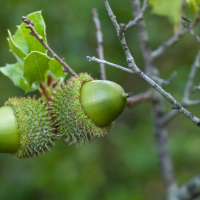
[{"label": "pale green spiny leaf reaching the left edge above the acorn", "polygon": [[23,69],[19,63],[7,64],[5,67],[0,67],[0,71],[7,77],[9,77],[13,83],[25,90],[26,92],[37,90],[38,86],[33,84],[29,86],[26,79],[23,77]]}]

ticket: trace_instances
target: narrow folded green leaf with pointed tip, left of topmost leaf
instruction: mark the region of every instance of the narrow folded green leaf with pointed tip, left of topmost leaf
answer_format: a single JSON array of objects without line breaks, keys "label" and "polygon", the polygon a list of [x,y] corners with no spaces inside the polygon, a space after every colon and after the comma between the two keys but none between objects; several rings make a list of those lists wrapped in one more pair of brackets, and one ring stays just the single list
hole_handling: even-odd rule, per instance
[{"label": "narrow folded green leaf with pointed tip, left of topmost leaf", "polygon": [[23,62],[24,62],[24,58],[27,56],[24,52],[22,52],[18,47],[17,45],[14,43],[13,39],[12,39],[12,36],[11,36],[11,33],[10,31],[8,30],[8,43],[9,43],[9,46],[10,46],[10,49],[12,51],[12,53],[14,54],[14,56],[16,57],[17,61],[23,65]]}]

